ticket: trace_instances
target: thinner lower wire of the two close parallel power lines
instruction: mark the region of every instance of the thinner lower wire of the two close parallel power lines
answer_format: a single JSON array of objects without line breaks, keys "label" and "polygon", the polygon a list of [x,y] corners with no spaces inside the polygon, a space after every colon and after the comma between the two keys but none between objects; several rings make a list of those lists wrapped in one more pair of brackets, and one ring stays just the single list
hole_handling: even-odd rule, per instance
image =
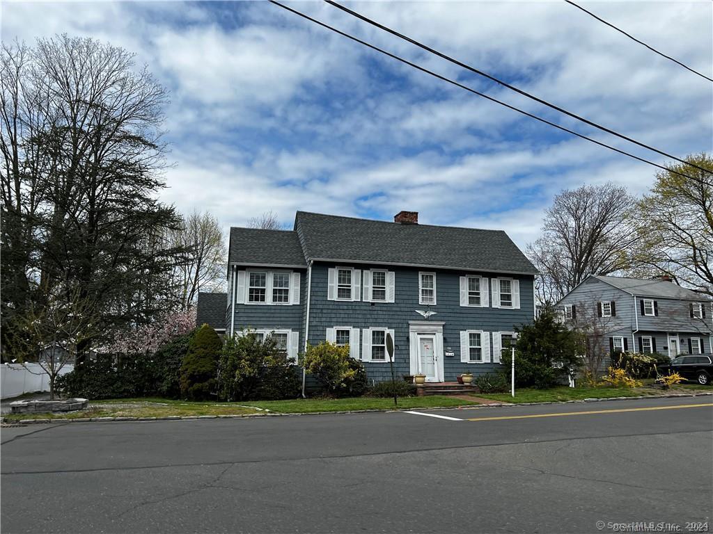
[{"label": "thinner lower wire of the two close parallel power lines", "polygon": [[[462,83],[456,82],[456,80],[451,80],[451,78],[446,78],[446,77],[443,76],[443,75],[440,75],[440,74],[438,74],[438,73],[434,73],[434,71],[432,71],[432,70],[429,70],[429,69],[427,69],[427,68],[424,68],[424,67],[421,67],[421,66],[419,66],[419,65],[416,65],[416,63],[411,63],[411,61],[408,61],[407,59],[404,59],[404,58],[401,58],[401,57],[399,57],[399,56],[396,56],[395,54],[393,54],[393,53],[391,53],[391,52],[387,52],[387,51],[383,50],[382,48],[379,48],[378,46],[374,46],[374,45],[372,45],[371,43],[367,43],[366,41],[362,41],[361,39],[359,39],[359,38],[357,38],[357,37],[354,37],[354,36],[352,36],[352,35],[349,35],[349,33],[345,33],[344,31],[338,30],[337,28],[334,28],[334,26],[329,26],[329,24],[327,24],[327,23],[324,23],[324,22],[322,22],[322,21],[318,21],[317,19],[313,19],[311,16],[309,16],[309,15],[307,15],[307,14],[304,14],[304,13],[302,13],[301,11],[297,11],[296,9],[292,9],[292,8],[289,7],[289,6],[285,6],[284,4],[280,4],[277,0],[270,0],[270,3],[271,3],[271,4],[275,4],[276,6],[279,6],[279,7],[281,7],[282,9],[286,9],[287,11],[290,11],[290,12],[294,13],[294,14],[297,15],[297,16],[301,16],[303,19],[307,19],[307,20],[310,21],[310,22],[314,22],[315,24],[317,24],[317,25],[319,25],[319,26],[322,26],[323,28],[327,28],[328,30],[334,31],[334,33],[339,33],[339,35],[341,35],[341,36],[343,36],[343,37],[346,37],[346,38],[348,38],[348,39],[351,39],[352,41],[355,41],[356,43],[359,43],[359,44],[361,44],[361,45],[364,45],[364,46],[366,46],[367,48],[371,48],[371,50],[374,50],[374,51],[377,51],[377,52],[379,52],[379,53],[382,53],[382,54],[384,54],[384,56],[389,56],[389,58],[395,59],[396,61],[400,61],[401,63],[404,63],[404,64],[406,64],[406,65],[408,65],[408,66],[410,66],[410,67],[415,68],[416,70],[421,70],[421,72],[424,72],[424,73],[426,73],[426,74],[430,74],[431,76],[434,76],[435,78],[438,78],[439,80],[443,80],[444,82],[448,82],[448,83],[451,83],[452,85],[456,85],[456,87],[459,87],[459,88],[461,88],[461,89],[465,89],[466,91],[468,91],[468,92],[470,92],[470,93],[473,93],[473,94],[475,94],[475,95],[478,95],[478,96],[481,96],[481,97],[483,97],[483,98],[486,98],[487,100],[490,100],[491,102],[494,102],[494,103],[496,103],[496,104],[503,105],[503,106],[505,106],[505,107],[508,108],[508,109],[511,109],[511,110],[516,111],[516,112],[518,112],[518,113],[522,113],[523,115],[527,115],[528,117],[533,118],[533,119],[535,119],[535,120],[538,120],[538,121],[540,121],[540,122],[544,122],[546,125],[550,125],[550,126],[553,126],[553,127],[555,127],[555,128],[558,128],[558,130],[562,130],[563,132],[568,132],[569,134],[575,135],[576,137],[580,137],[581,139],[585,139],[585,140],[588,140],[588,141],[590,141],[590,142],[593,142],[593,143],[595,143],[595,145],[600,145],[600,147],[605,147],[605,148],[608,148],[608,149],[613,150],[613,151],[615,151],[615,152],[619,152],[619,153],[622,154],[622,155],[631,157],[631,158],[633,158],[633,159],[637,159],[637,160],[640,161],[640,162],[648,163],[648,164],[650,164],[650,165],[653,165],[654,167],[658,167],[659,169],[663,169],[663,170],[665,170],[665,171],[667,171],[667,172],[671,172],[672,174],[677,174],[678,176],[681,176],[681,177],[684,177],[684,178],[695,179],[694,177],[689,176],[688,174],[684,174],[684,173],[682,173],[682,172],[678,172],[678,171],[675,171],[675,170],[673,170],[673,169],[669,169],[668,167],[664,167],[663,165],[657,164],[657,163],[652,162],[652,161],[650,161],[650,160],[648,160],[648,159],[644,159],[644,158],[642,158],[642,157],[633,155],[633,154],[631,154],[630,152],[626,152],[625,150],[620,150],[620,149],[618,149],[617,147],[612,147],[611,145],[607,145],[606,143],[597,141],[597,140],[595,140],[595,139],[593,139],[593,138],[591,138],[591,137],[587,137],[586,135],[582,135],[582,134],[580,134],[580,133],[578,133],[578,132],[575,132],[574,130],[570,130],[570,129],[564,127],[564,126],[560,126],[560,125],[558,125],[558,124],[555,124],[555,122],[551,122],[551,121],[549,121],[549,120],[543,119],[542,117],[538,117],[537,115],[533,115],[532,113],[527,112],[527,111],[525,111],[525,110],[521,110],[520,108],[515,108],[515,106],[513,106],[513,105],[510,105],[510,104],[508,104],[508,103],[501,102],[501,100],[498,100],[498,99],[493,98],[493,97],[491,97],[491,96],[489,96],[489,95],[486,95],[485,93],[481,93],[480,91],[477,91],[477,90],[475,90],[475,89],[473,89],[473,88],[468,87],[468,85],[463,85]],[[686,162],[686,163],[689,164],[688,162]],[[705,170],[705,169],[704,169],[704,170]]]}]

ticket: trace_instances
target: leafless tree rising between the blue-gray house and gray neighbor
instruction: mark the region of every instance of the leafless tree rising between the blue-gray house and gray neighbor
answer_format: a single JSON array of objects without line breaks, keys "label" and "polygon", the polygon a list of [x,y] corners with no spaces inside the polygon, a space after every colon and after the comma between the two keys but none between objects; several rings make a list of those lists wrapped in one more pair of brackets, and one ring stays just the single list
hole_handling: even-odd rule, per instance
[{"label": "leafless tree rising between the blue-gray house and gray neighbor", "polygon": [[555,197],[543,221],[543,235],[528,246],[542,276],[542,303],[554,303],[591,274],[629,268],[637,241],[635,199],[614,184],[582,186]]}]

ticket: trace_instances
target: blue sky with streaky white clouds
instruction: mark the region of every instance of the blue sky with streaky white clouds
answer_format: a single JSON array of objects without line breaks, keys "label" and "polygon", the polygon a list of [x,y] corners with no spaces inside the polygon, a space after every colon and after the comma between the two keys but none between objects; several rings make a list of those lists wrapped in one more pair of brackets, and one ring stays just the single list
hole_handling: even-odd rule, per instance
[{"label": "blue sky with streaky white clouds", "polygon": [[[660,157],[380,33],[320,2],[290,4],[495,98],[647,159]],[[583,6],[711,75],[709,1]],[[713,83],[563,1],[355,2],[550,102],[674,155],[713,150]],[[226,227],[297,209],[505,229],[537,238],[563,188],[645,192],[655,169],[577,140],[265,2],[10,2],[2,39],[92,36],[136,53],[171,93],[165,201]]]}]

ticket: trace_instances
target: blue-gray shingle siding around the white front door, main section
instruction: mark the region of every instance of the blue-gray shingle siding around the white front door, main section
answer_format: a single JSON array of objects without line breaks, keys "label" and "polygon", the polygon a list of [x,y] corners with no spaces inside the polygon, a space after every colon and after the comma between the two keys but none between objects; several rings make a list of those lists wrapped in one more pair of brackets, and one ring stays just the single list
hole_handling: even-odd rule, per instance
[{"label": "blue-gray shingle siding around the white front door, main section", "polygon": [[[461,363],[461,330],[486,330],[488,332],[512,331],[515,325],[531,323],[534,318],[533,277],[515,276],[520,281],[520,309],[467,308],[460,305],[460,276],[465,271],[436,271],[436,305],[419,304],[419,268],[383,266],[395,273],[394,303],[344,302],[327,300],[327,276],[336,264],[315,263],[312,267],[312,299],[309,310],[309,342],[317,344],[327,337],[327,328],[350,326],[353,328],[384,327],[394,329],[394,360],[396,377],[410,374],[409,321],[424,320],[415,310],[430,309],[436,312],[432,321],[443,321],[443,347],[452,351],[444,357],[443,372],[446,381],[454,381],[463,372],[475,375],[493,372],[500,365],[493,363]],[[378,265],[356,265],[355,268],[379,268]],[[468,272],[493,278],[494,273]],[[491,292],[490,292],[491,293]],[[361,335],[363,340],[363,333]],[[361,347],[360,352],[361,352]],[[492,341],[491,341],[492,349]],[[488,358],[489,359],[489,358]],[[391,378],[389,363],[364,362],[369,382]]]}]

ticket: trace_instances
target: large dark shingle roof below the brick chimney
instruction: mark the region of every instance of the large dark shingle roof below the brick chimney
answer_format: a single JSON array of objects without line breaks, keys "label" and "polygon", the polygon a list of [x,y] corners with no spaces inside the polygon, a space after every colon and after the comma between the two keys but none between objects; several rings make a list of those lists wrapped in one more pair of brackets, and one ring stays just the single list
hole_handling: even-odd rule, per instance
[{"label": "large dark shingle roof below the brick chimney", "polygon": [[538,273],[504,231],[400,224],[297,211],[308,259]]}]

